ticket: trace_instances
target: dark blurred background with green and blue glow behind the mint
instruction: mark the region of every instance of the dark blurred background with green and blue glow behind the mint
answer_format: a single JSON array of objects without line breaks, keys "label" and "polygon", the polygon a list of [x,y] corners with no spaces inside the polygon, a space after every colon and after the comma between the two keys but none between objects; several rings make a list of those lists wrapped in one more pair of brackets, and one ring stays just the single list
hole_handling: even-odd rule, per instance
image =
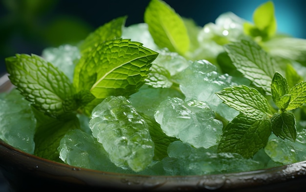
[{"label": "dark blurred background with green and blue glow behind the mint", "polygon": [[[199,26],[231,11],[252,21],[253,11],[267,0],[165,0]],[[306,0],[272,0],[278,32],[306,39]],[[4,58],[38,54],[45,47],[76,43],[104,23],[128,16],[126,26],[144,22],[150,0],[0,0],[0,75]]]}]

